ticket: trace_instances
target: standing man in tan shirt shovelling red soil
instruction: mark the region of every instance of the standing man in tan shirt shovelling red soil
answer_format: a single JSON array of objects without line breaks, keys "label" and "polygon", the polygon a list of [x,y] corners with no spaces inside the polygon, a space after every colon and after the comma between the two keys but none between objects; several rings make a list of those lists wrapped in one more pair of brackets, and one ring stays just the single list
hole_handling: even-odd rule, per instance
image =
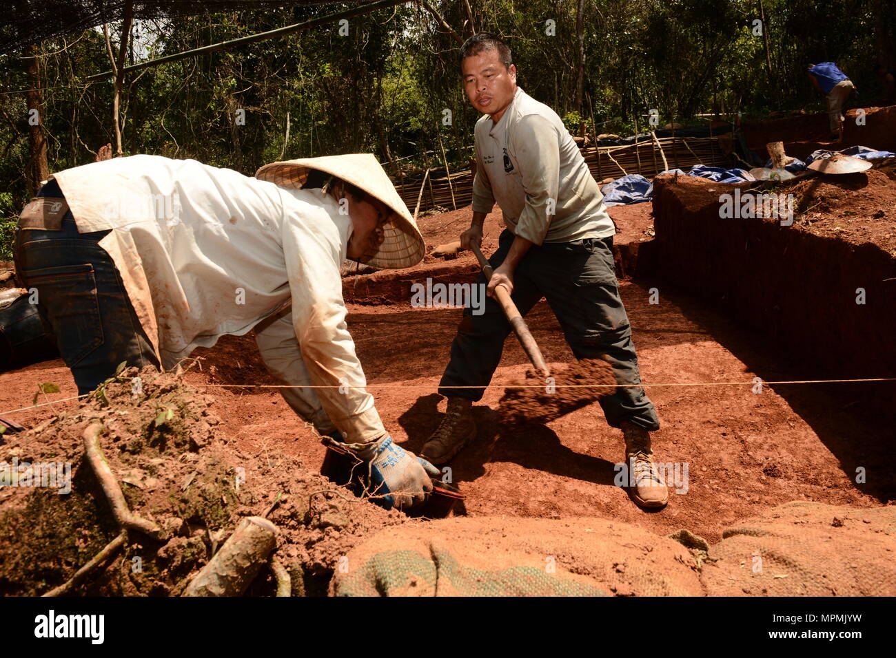
[{"label": "standing man in tan shirt shovelling red soil", "polygon": [[[434,464],[450,461],[476,435],[471,405],[482,398],[501,360],[510,324],[494,299],[504,286],[525,315],[542,296],[564,329],[576,358],[604,355],[625,386],[600,399],[607,423],[623,430],[633,470],[633,500],[663,507],[668,491],[652,461],[650,431],[659,419],[641,383],[613,263],[615,228],[582,154],[550,107],[516,84],[510,49],[494,35],[477,34],[461,47],[470,103],[484,115],[476,124],[477,169],[473,220],[461,244],[481,244],[482,225],[495,201],[506,230],[492,255],[486,310],[464,311],[439,392],[447,413],[422,450]],[[480,277],[478,284],[485,284]],[[455,388],[457,387],[457,388]]]}]

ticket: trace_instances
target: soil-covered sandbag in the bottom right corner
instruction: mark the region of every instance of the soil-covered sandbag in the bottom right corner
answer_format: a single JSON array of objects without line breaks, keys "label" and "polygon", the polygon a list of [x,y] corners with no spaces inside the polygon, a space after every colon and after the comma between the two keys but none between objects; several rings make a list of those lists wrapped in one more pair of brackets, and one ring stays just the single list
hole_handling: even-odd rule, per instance
[{"label": "soil-covered sandbag in the bottom right corner", "polygon": [[893,596],[896,507],[789,502],[723,531],[710,557],[710,596]]}]

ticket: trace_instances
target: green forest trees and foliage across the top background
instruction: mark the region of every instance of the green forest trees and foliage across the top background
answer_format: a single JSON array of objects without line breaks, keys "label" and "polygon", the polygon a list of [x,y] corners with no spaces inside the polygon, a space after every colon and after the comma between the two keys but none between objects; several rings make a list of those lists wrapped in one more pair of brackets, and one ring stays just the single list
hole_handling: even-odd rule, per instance
[{"label": "green forest trees and foliage across the top background", "polygon": [[[465,3],[430,4],[461,38],[470,36]],[[875,9],[889,4],[763,0],[770,72],[764,39],[754,34],[754,0],[470,2],[476,29],[503,36],[513,48],[521,87],[564,117],[573,134],[582,121],[592,133],[643,130],[651,108],[659,110],[660,125],[697,121],[694,115],[712,111],[821,111],[823,99],[803,73],[808,61],[836,61],[856,82],[862,102],[873,103],[880,90],[871,62],[892,57],[882,44],[896,41],[892,24],[880,21]],[[340,6],[138,21],[129,57],[139,62],[207,46]],[[120,25],[110,28],[116,47]],[[466,166],[478,113],[461,86],[458,52],[457,41],[426,9],[406,3],[349,19],[347,36],[331,23],[151,66],[126,76],[123,150],[196,158],[247,175],[275,159],[358,151],[374,152],[383,162],[401,160],[403,167],[438,167],[443,146],[452,167]],[[84,81],[109,69],[102,32],[51,39],[39,53],[50,170],[92,162],[101,146],[115,145],[113,86]],[[23,55],[0,56],[4,260],[12,255],[14,218],[34,191],[22,93],[34,81]],[[237,123],[239,110],[245,124]],[[446,110],[449,124],[443,123]]]}]

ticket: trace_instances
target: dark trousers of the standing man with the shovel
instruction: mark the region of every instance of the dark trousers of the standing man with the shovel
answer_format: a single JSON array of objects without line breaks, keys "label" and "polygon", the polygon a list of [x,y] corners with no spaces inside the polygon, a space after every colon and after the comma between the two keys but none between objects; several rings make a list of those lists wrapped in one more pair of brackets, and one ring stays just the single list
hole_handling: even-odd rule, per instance
[{"label": "dark trousers of the standing man with the shovel", "polygon": [[[513,234],[504,229],[498,238],[498,250],[488,259],[492,268],[504,262],[511,244]],[[476,285],[485,283],[485,275],[480,274]],[[542,296],[577,359],[603,355],[613,366],[617,383],[641,383],[632,328],[616,284],[612,237],[532,246],[513,273],[511,299],[525,315]],[[482,399],[485,389],[452,387],[487,386],[510,332],[501,305],[492,297],[486,298],[481,315],[474,315],[470,306],[465,308],[439,393],[473,402]],[[616,389],[612,396],[599,398],[599,404],[611,427],[627,421],[649,432],[659,430],[656,409],[640,386]]]}]

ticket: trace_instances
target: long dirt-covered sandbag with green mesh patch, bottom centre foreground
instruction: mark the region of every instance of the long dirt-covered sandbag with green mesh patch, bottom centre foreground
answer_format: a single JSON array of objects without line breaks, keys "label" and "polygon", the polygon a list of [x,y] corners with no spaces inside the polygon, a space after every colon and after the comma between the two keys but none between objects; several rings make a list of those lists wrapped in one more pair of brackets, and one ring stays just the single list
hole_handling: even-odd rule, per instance
[{"label": "long dirt-covered sandbag with green mesh patch, bottom centre foreground", "polygon": [[336,568],[336,596],[702,596],[681,543],[599,518],[452,517],[387,528]]}]

